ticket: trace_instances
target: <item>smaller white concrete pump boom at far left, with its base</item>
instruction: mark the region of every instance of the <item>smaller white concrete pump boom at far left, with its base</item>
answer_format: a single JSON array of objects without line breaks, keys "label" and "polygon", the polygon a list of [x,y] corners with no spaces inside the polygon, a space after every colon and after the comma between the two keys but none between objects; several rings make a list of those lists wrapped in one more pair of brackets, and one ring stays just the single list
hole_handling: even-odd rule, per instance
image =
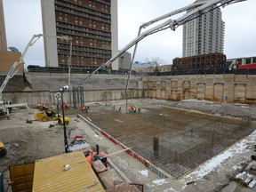
[{"label": "smaller white concrete pump boom at far left, with its base", "polygon": [[20,103],[20,104],[12,104],[11,100],[2,100],[2,96],[3,96],[3,92],[4,92],[4,88],[6,86],[6,84],[8,83],[8,81],[15,76],[15,74],[20,70],[20,68],[25,64],[24,61],[24,57],[26,55],[26,53],[28,52],[28,48],[30,46],[32,46],[33,44],[36,43],[36,41],[41,37],[56,37],[56,38],[60,38],[60,39],[64,39],[70,42],[70,56],[69,56],[69,60],[71,59],[71,52],[72,52],[72,38],[69,36],[46,36],[43,34],[37,34],[32,36],[32,38],[30,39],[30,41],[28,42],[25,50],[22,52],[20,59],[18,61],[15,61],[12,65],[12,68],[9,70],[7,76],[4,79],[3,84],[1,84],[0,86],[0,116],[7,114],[7,116],[9,116],[9,112],[12,110],[12,108],[19,108],[19,107],[25,107],[28,108],[28,104],[27,103]]}]

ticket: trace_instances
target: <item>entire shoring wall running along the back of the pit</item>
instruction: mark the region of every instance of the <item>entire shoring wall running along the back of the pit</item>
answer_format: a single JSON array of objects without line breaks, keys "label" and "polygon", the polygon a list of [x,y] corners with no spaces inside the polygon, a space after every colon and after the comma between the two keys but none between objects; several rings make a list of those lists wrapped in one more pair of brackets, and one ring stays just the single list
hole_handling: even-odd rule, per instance
[{"label": "entire shoring wall running along the back of the pit", "polygon": [[[27,102],[55,104],[53,95],[68,84],[67,74],[28,73],[27,81],[20,81],[23,91],[17,91],[17,82],[8,84],[4,100],[12,103]],[[71,85],[77,86],[84,75],[71,76]],[[84,101],[124,100],[127,76],[95,75],[84,86]],[[132,76],[128,99],[188,100],[202,99],[218,102],[256,102],[256,75],[184,75],[184,76]],[[11,86],[11,88],[10,88]],[[70,103],[68,92],[64,102]],[[71,93],[72,96],[72,93]],[[72,100],[72,98],[71,98]]]}]

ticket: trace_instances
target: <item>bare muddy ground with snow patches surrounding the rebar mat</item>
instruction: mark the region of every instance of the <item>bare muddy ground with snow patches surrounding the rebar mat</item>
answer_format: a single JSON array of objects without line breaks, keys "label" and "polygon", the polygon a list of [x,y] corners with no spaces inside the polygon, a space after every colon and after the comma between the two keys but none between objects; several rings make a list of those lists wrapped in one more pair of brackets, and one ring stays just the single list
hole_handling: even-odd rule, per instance
[{"label": "bare muddy ground with snow patches surrounding the rebar mat", "polygon": [[[124,101],[112,101],[109,105],[120,105]],[[155,105],[164,105],[177,108],[184,108],[187,110],[196,109],[204,113],[216,114],[218,116],[250,117],[252,120],[256,119],[256,111],[253,106],[235,105],[227,103],[212,103],[204,100],[187,100],[180,102],[164,101],[164,100],[133,100],[132,102],[139,102],[140,106],[147,105],[147,102]],[[92,103],[93,106],[106,106],[106,103]],[[124,105],[124,103],[123,103]],[[88,114],[90,114],[90,110]],[[118,110],[116,108],[116,110]],[[4,172],[4,183],[9,182],[8,167],[12,164],[27,164],[33,163],[36,159],[48,156],[55,156],[64,153],[64,136],[63,126],[56,122],[36,122],[27,124],[27,119],[35,119],[36,109],[20,109],[13,111],[11,118],[7,120],[5,117],[0,119],[0,140],[4,142],[8,150],[7,156],[0,158],[0,171]],[[92,148],[100,145],[100,150],[108,154],[114,153],[122,148],[114,145],[107,140],[99,132],[93,130],[83,120],[76,117],[77,113],[82,111],[68,110],[66,116],[69,116],[71,121],[68,124],[68,140],[72,140],[75,135],[84,135]],[[51,126],[50,126],[51,125]],[[136,159],[132,158],[126,153],[120,153],[111,156],[111,160],[121,169],[124,174],[132,180],[132,182],[142,183],[145,191],[234,191],[236,182],[232,183],[234,187],[231,189],[224,187],[228,185],[230,180],[234,180],[237,172],[242,171],[248,164],[252,164],[251,155],[254,154],[255,132],[246,137],[244,146],[237,152],[232,154],[225,160],[215,163],[215,167],[204,174],[198,174],[204,167],[198,166],[193,172],[187,174],[180,179],[161,178],[155,173],[151,172],[143,164],[140,164]],[[231,150],[238,148],[234,145]],[[209,163],[209,162],[208,162]],[[211,162],[210,162],[211,163]],[[205,163],[207,164],[207,162]],[[218,166],[217,166],[218,165]],[[224,188],[224,189],[222,189]],[[11,191],[11,187],[5,185],[6,191]],[[240,188],[240,191],[255,191],[253,189]]]}]

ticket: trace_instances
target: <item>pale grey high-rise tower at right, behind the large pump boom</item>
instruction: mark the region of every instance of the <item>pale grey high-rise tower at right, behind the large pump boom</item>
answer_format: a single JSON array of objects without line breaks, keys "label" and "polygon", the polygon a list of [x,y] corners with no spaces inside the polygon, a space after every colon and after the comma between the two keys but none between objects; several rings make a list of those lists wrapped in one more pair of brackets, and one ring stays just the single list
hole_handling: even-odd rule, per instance
[{"label": "pale grey high-rise tower at right, behind the large pump boom", "polygon": [[[197,0],[196,2],[200,1],[204,0]],[[225,23],[221,19],[220,8],[184,24],[182,57],[216,52],[223,53],[224,28]]]}]

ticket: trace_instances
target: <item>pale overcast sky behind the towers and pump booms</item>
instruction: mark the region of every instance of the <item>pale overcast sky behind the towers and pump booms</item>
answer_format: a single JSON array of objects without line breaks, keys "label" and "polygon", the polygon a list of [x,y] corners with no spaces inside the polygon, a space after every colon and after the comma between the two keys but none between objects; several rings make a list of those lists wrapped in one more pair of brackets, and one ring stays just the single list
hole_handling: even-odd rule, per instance
[{"label": "pale overcast sky behind the towers and pump booms", "polygon": [[[34,34],[43,33],[40,0],[3,0],[7,46],[23,52]],[[117,0],[118,48],[122,49],[138,35],[139,27],[148,20],[192,4],[194,0]],[[225,21],[224,53],[227,58],[256,56],[256,0],[230,4],[221,8]],[[184,13],[182,13],[184,14]],[[182,14],[173,16],[172,19]],[[163,21],[158,22],[160,24]],[[152,28],[148,27],[147,29]],[[39,39],[25,56],[26,66],[44,66],[44,44]],[[132,49],[128,52],[132,53]],[[140,41],[135,60],[159,58],[160,64],[171,64],[182,57],[182,27],[166,29]]]}]

